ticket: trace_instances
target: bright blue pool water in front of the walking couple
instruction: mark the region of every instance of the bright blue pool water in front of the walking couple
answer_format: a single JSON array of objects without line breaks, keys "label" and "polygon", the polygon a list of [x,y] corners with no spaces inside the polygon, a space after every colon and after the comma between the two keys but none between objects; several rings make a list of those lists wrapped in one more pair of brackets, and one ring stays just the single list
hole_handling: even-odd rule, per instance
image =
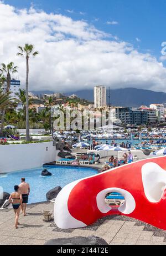
[{"label": "bright blue pool water in front of the walking couple", "polygon": [[[42,170],[46,168],[52,176],[42,177]],[[46,200],[45,194],[52,188],[74,182],[74,180],[86,178],[97,174],[97,170],[81,167],[55,167],[46,166],[37,169],[23,170],[0,175],[0,186],[3,191],[12,193],[14,185],[20,184],[20,178],[25,177],[25,181],[30,185],[30,195],[28,203],[37,203]]]}]

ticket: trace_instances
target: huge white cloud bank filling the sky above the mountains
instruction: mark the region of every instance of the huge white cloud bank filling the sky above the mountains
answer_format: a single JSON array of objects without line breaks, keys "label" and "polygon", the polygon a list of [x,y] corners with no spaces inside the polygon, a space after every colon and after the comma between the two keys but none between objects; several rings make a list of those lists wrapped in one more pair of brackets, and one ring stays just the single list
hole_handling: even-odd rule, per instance
[{"label": "huge white cloud bank filling the sky above the mountains", "polygon": [[40,52],[30,59],[30,90],[69,92],[104,84],[166,91],[162,63],[85,21],[0,2],[0,42],[0,63],[13,61],[19,66],[22,86],[25,59],[16,56],[17,46],[33,43]]}]

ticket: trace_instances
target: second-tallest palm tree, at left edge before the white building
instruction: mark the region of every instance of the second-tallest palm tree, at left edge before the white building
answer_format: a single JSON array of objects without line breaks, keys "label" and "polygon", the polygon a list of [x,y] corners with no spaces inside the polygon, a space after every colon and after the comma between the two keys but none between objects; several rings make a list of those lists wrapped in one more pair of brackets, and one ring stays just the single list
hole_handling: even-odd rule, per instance
[{"label": "second-tallest palm tree, at left edge before the white building", "polygon": [[[7,65],[4,63],[1,63],[1,68],[0,71],[2,73],[6,73],[7,77],[6,77],[6,82],[7,82],[7,92],[10,91],[10,87],[11,87],[11,73],[17,73],[18,67],[14,66],[14,62],[10,62]],[[4,82],[4,77],[2,78],[2,81]],[[4,127],[4,115],[5,115],[5,109],[2,109],[2,119],[1,119],[1,130],[0,130],[0,134],[2,135],[3,133],[3,127]]]}]

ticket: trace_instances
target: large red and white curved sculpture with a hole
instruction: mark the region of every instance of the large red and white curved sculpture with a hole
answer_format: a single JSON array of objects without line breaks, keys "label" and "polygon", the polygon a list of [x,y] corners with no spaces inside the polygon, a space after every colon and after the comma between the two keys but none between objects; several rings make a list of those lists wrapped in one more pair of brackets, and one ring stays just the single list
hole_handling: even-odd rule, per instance
[{"label": "large red and white curved sculpture with a hole", "polygon": [[[125,197],[108,207],[107,193]],[[166,157],[141,160],[66,185],[54,206],[59,228],[81,228],[107,215],[125,215],[166,230]]]}]

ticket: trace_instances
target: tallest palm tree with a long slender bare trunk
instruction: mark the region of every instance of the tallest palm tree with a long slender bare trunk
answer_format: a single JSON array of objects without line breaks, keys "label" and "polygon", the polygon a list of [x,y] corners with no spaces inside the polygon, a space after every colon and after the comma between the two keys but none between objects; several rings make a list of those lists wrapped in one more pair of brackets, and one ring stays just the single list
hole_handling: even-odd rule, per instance
[{"label": "tallest palm tree with a long slender bare trunk", "polygon": [[26,73],[26,140],[30,140],[29,136],[29,99],[28,99],[28,83],[29,83],[29,58],[30,56],[37,56],[39,52],[34,51],[33,44],[26,43],[24,47],[18,46],[19,53],[17,53],[18,56],[22,56],[26,58],[26,66],[27,66],[27,73]]}]

